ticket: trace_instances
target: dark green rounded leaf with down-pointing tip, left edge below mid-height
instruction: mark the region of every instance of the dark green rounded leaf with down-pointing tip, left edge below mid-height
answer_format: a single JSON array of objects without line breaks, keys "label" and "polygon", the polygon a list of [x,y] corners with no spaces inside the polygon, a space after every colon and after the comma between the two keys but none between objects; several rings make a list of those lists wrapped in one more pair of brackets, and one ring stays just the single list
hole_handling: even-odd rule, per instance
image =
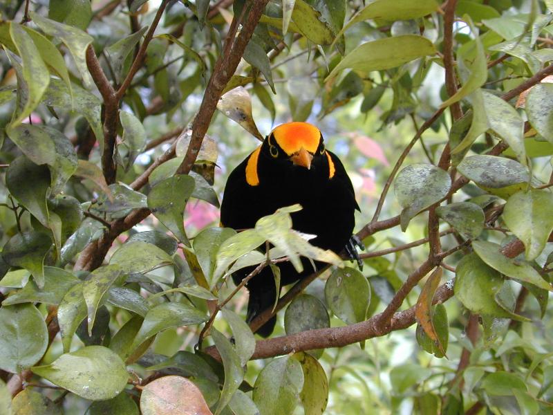
[{"label": "dark green rounded leaf with down-pointing tip, left edge below mid-height", "polygon": [[44,288],[44,257],[52,247],[52,240],[42,232],[15,234],[3,248],[2,257],[10,266],[28,270],[39,288]]}]

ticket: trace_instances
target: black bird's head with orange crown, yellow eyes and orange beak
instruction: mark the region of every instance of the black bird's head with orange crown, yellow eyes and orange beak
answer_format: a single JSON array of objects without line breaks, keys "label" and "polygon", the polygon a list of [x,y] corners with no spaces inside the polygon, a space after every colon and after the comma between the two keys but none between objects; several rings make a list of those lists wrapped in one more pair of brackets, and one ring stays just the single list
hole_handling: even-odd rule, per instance
[{"label": "black bird's head with orange crown, yellow eyes and orange beak", "polygon": [[308,122],[286,122],[276,127],[265,139],[272,158],[288,159],[294,165],[311,168],[314,157],[324,154],[321,131]]}]

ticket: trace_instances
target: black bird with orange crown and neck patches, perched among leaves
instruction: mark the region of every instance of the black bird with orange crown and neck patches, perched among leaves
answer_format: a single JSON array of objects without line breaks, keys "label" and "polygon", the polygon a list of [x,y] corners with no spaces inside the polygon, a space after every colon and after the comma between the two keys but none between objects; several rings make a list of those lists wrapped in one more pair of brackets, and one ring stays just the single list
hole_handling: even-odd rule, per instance
[{"label": "black bird with orange crown and neck patches, perched among leaves", "polygon": [[[302,209],[291,214],[294,230],[317,235],[310,243],[319,248],[336,253],[346,248],[362,266],[355,246],[364,247],[352,237],[355,210],[359,210],[353,185],[339,158],[326,149],[321,131],[308,122],[275,127],[229,174],[221,201],[221,225],[235,230],[254,228],[261,217],[296,203]],[[301,273],[290,262],[279,264],[280,286],[313,272],[308,259],[302,262]],[[322,265],[315,261],[315,266]],[[234,283],[239,284],[253,268],[234,272]],[[270,267],[263,268],[246,287],[250,291],[246,321],[251,322],[266,308],[272,308],[277,299]],[[276,318],[273,316],[256,333],[268,337]]]}]

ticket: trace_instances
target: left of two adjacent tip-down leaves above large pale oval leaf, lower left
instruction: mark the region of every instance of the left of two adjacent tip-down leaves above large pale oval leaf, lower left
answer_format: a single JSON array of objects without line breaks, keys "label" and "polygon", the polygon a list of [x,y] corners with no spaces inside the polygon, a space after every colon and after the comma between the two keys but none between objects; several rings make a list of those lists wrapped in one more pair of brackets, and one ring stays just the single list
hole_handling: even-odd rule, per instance
[{"label": "left of two adjacent tip-down leaves above large pale oval leaf, lower left", "polygon": [[85,318],[86,304],[82,296],[82,283],[79,283],[69,289],[57,308],[57,322],[64,351],[67,352],[71,348],[73,335]]}]

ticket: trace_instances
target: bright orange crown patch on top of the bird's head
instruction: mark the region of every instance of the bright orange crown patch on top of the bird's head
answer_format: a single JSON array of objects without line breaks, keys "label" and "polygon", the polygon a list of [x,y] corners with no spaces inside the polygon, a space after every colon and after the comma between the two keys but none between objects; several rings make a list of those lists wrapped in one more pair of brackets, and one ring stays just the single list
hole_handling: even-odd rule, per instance
[{"label": "bright orange crown patch on top of the bird's head", "polygon": [[301,147],[315,153],[321,140],[321,131],[308,122],[287,122],[275,128],[272,134],[288,156],[292,156]]}]

